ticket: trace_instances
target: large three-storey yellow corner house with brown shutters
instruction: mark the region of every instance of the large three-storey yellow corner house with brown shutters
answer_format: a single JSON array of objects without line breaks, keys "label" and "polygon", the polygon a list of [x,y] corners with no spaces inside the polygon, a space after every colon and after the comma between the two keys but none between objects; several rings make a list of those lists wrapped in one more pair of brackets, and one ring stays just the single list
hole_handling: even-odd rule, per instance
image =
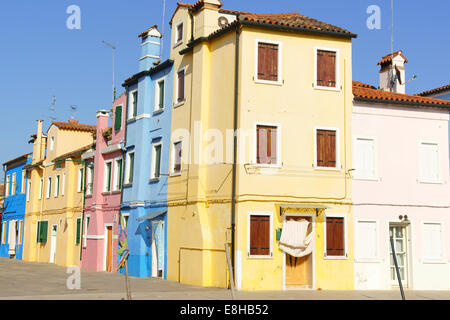
[{"label": "large three-storey yellow corner house with brown shutters", "polygon": [[[171,26],[168,280],[226,287],[229,243],[238,289],[353,289],[356,35],[218,0],[179,3]],[[279,241],[300,225],[303,257]]]}]

